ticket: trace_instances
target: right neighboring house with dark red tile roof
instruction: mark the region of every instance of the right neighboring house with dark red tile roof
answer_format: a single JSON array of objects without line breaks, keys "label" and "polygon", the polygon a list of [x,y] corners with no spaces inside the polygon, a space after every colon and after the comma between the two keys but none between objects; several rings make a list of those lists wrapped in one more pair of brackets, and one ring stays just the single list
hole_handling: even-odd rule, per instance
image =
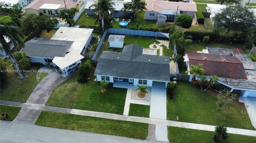
[{"label": "right neighboring house with dark red tile roof", "polygon": [[[188,74],[191,64],[203,64],[204,75],[219,77],[219,85],[244,97],[256,97],[256,63],[240,49],[207,48],[206,53],[187,53]],[[209,54],[207,54],[209,53]]]}]

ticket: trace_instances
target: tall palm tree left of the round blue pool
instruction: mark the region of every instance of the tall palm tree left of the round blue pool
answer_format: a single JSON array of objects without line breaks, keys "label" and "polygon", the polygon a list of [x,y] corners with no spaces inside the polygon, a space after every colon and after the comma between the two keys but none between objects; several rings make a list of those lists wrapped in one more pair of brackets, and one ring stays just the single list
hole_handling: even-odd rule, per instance
[{"label": "tall palm tree left of the round blue pool", "polygon": [[101,21],[102,25],[102,31],[104,32],[104,18],[109,18],[110,13],[114,11],[114,5],[115,3],[112,2],[112,0],[99,0],[95,1],[94,4],[92,4],[89,9],[92,9],[94,12],[94,18],[96,19],[96,22]]}]

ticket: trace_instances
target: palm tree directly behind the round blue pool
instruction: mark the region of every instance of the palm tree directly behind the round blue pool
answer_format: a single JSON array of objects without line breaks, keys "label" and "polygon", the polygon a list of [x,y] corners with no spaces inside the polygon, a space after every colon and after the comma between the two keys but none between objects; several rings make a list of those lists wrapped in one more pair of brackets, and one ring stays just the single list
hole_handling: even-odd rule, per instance
[{"label": "palm tree directly behind the round blue pool", "polygon": [[132,0],[131,2],[127,2],[124,5],[126,7],[126,10],[128,9],[133,11],[134,19],[135,19],[136,12],[144,11],[146,9],[146,3],[142,2],[141,0]]}]

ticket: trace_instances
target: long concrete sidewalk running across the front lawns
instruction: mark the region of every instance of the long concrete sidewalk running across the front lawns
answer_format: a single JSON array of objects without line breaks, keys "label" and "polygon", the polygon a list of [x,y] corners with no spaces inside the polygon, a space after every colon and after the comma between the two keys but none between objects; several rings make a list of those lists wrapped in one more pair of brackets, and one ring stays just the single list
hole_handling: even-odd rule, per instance
[{"label": "long concrete sidewalk running across the front lawns", "polygon": [[[0,100],[0,104],[7,105],[7,106],[17,106],[17,107],[22,107],[22,108],[31,108],[31,109],[42,110],[42,111],[52,111],[52,112],[59,112],[59,113],[84,115],[84,116],[94,116],[94,117],[101,117],[101,118],[105,118],[105,119],[132,121],[132,122],[157,124],[157,125],[166,125],[166,126],[180,127],[180,128],[187,128],[187,129],[196,129],[196,130],[205,130],[205,131],[214,131],[215,130],[214,125],[206,125],[206,124],[186,123],[186,122],[161,120],[161,119],[150,119],[147,117],[117,115],[117,114],[112,114],[112,113],[76,110],[76,109],[70,109],[70,108],[45,106],[45,105],[39,105],[39,104],[18,103],[18,102],[6,101],[6,100]],[[227,130],[228,130],[228,133],[256,137],[255,130],[238,129],[238,128],[227,128]]]}]

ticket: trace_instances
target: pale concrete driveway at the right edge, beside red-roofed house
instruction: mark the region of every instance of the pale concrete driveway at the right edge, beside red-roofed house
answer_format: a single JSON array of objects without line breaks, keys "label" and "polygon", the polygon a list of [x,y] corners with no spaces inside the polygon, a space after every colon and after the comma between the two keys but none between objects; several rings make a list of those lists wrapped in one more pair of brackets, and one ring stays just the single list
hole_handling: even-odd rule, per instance
[{"label": "pale concrete driveway at the right edge, beside red-roofed house", "polygon": [[251,119],[253,127],[256,129],[256,97],[243,97],[244,104],[246,106],[247,112]]}]

